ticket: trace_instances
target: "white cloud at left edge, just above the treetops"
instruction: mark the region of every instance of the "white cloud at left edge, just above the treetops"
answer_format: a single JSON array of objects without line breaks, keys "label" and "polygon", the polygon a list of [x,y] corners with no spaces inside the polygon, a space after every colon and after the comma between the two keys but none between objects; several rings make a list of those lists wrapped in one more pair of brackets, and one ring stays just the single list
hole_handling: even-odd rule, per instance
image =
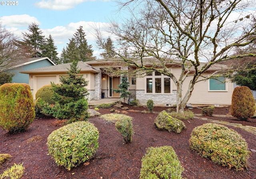
[{"label": "white cloud at left edge, just above the treetops", "polygon": [[37,18],[29,16],[27,14],[2,16],[0,17],[0,21],[2,25],[11,27],[27,27],[33,22],[35,22],[36,24],[40,24]]}]

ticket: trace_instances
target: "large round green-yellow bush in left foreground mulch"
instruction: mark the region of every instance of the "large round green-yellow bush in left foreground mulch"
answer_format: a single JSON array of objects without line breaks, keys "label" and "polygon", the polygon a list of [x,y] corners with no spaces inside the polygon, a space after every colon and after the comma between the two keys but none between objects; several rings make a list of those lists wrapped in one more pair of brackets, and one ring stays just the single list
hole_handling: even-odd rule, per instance
[{"label": "large round green-yellow bush in left foreground mulch", "polygon": [[92,123],[73,122],[48,136],[48,151],[58,166],[70,170],[94,156],[98,148],[98,138],[99,131]]}]

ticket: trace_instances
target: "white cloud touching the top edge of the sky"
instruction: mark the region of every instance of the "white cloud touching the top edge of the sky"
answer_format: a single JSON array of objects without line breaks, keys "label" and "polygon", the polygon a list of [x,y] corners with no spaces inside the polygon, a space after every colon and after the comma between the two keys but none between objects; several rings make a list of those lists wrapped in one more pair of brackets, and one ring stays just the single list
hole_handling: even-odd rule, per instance
[{"label": "white cloud touching the top edge of the sky", "polygon": [[67,10],[74,8],[74,6],[86,1],[94,0],[42,0],[35,5],[38,8],[51,9],[51,10]]}]

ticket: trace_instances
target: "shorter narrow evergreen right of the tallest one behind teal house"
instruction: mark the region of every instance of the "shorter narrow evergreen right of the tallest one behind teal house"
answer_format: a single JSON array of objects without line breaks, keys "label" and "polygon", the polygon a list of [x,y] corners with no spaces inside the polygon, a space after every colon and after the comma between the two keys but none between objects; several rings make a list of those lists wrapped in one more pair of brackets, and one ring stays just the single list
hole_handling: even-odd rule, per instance
[{"label": "shorter narrow evergreen right of the tallest one behind teal house", "polygon": [[43,46],[42,56],[50,58],[55,64],[60,64],[60,59],[57,57],[58,52],[56,51],[57,47],[54,46],[54,40],[49,35],[48,38],[46,38],[46,44]]}]

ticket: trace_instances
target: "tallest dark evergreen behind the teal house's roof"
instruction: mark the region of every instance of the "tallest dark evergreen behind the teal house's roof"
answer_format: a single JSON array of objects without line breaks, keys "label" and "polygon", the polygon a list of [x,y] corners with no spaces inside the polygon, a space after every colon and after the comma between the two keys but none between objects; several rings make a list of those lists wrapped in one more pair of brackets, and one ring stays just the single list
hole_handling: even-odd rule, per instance
[{"label": "tallest dark evergreen behind the teal house's roof", "polygon": [[28,52],[30,53],[31,57],[42,57],[42,50],[43,46],[45,45],[45,37],[38,27],[39,25],[32,23],[28,26],[28,31],[31,32],[31,34],[25,32],[23,34],[23,44],[26,44],[28,46]]}]

